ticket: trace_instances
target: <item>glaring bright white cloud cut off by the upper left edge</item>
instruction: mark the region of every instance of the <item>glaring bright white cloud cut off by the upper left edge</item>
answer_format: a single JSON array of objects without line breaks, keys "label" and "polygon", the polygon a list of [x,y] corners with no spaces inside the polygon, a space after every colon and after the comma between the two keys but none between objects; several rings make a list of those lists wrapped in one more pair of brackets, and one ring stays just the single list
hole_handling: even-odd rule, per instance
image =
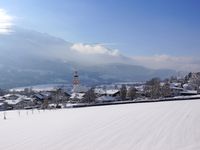
[{"label": "glaring bright white cloud cut off by the upper left edge", "polygon": [[13,17],[7,14],[4,9],[0,9],[0,34],[7,34],[11,32]]}]

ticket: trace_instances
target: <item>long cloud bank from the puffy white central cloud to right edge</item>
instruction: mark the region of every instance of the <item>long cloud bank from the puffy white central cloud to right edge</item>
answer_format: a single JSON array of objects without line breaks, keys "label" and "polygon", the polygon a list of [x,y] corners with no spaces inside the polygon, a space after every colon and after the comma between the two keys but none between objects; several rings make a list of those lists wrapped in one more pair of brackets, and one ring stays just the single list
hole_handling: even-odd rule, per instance
[{"label": "long cloud bank from the puffy white central cloud to right edge", "polygon": [[[71,50],[86,57],[85,61],[91,59],[99,62],[116,62],[131,65],[141,65],[152,69],[173,69],[176,71],[200,71],[200,59],[192,56],[170,56],[166,54],[153,56],[126,56],[119,50],[112,50],[100,44],[75,43]],[[94,56],[92,59],[89,56]],[[103,56],[102,56],[103,55]],[[99,57],[101,56],[101,57]],[[98,58],[98,59],[96,59]],[[109,61],[108,61],[109,60]]]}]

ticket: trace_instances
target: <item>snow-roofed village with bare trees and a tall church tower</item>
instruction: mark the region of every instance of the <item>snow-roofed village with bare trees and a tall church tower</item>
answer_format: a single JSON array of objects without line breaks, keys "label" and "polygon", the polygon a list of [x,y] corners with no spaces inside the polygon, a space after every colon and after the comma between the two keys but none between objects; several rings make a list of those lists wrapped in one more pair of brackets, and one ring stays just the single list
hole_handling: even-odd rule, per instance
[{"label": "snow-roofed village with bare trees and a tall church tower", "polygon": [[55,109],[86,104],[199,98],[199,86],[200,73],[189,73],[184,78],[171,77],[165,80],[153,78],[144,83],[128,82],[87,87],[81,85],[78,71],[74,71],[71,91],[64,86],[39,91],[32,88],[20,91],[1,90],[0,110]]}]

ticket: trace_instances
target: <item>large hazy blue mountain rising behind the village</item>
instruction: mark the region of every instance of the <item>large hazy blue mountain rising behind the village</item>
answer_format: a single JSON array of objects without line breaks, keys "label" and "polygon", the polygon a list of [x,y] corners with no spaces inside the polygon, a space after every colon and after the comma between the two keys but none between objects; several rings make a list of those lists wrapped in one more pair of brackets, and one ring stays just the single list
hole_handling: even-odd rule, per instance
[{"label": "large hazy blue mountain rising behind the village", "polygon": [[72,46],[63,39],[17,27],[12,34],[0,35],[0,88],[71,83],[74,69],[84,84],[144,81],[175,74],[134,65],[128,57],[109,50],[85,54],[73,51]]}]

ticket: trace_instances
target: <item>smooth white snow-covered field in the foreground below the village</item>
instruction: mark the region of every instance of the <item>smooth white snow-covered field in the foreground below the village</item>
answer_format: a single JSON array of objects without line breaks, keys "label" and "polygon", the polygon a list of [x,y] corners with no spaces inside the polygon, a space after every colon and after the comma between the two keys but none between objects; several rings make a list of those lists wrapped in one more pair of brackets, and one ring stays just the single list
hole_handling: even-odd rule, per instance
[{"label": "smooth white snow-covered field in the foreground below the village", "polygon": [[0,112],[0,150],[199,150],[200,100]]}]

